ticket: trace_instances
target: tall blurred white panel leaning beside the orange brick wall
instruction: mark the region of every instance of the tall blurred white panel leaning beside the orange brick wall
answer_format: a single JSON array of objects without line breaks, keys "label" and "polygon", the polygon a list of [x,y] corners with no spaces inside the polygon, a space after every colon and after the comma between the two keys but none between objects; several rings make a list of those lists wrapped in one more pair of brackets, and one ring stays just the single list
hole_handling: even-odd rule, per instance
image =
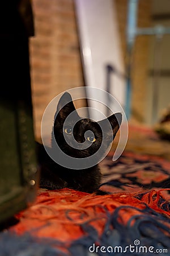
[{"label": "tall blurred white panel leaning beside the orange brick wall", "polygon": [[[114,0],[75,0],[83,71],[87,86],[106,90],[107,64],[124,73]],[[125,80],[111,75],[111,93],[125,105]],[[89,102],[104,111],[104,106]]]}]

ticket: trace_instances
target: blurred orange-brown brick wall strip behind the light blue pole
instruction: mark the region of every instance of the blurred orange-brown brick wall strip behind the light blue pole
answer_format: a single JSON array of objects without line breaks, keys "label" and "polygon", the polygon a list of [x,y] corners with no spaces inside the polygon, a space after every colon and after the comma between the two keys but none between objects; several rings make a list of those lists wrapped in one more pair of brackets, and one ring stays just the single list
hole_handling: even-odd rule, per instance
[{"label": "blurred orange-brown brick wall strip behind the light blue pole", "polygon": [[[138,6],[138,27],[151,26],[151,0],[139,0]],[[126,63],[126,22],[127,22],[127,0],[116,0],[117,17],[121,36],[122,51]],[[132,97],[131,97],[131,119],[138,122],[145,121],[146,115],[146,93],[147,93],[147,71],[149,36],[138,36],[134,49],[132,61]]]}]

